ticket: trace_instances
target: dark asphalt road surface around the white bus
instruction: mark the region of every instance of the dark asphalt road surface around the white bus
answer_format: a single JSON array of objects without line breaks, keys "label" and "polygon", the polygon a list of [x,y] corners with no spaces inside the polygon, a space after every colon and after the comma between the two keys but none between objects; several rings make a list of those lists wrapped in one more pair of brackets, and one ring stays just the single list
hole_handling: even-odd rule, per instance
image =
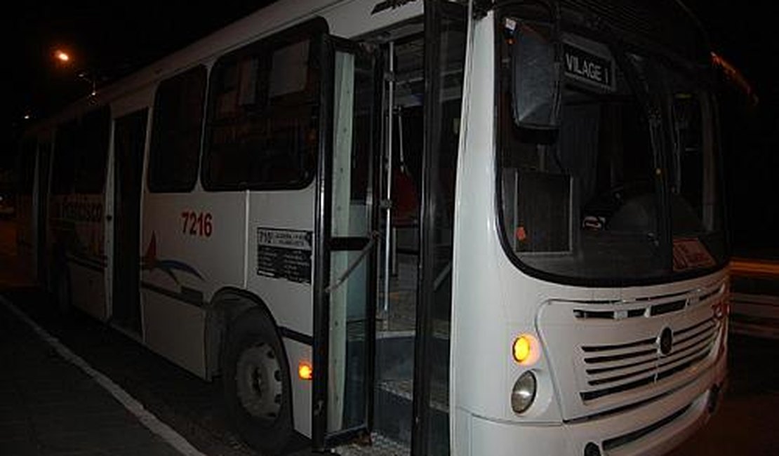
[{"label": "dark asphalt road surface around the white bus", "polygon": [[[205,454],[251,456],[227,423],[219,381],[206,383],[78,311],[62,317],[49,296],[14,271],[12,228],[0,223],[0,294],[128,391]],[[2,247],[5,244],[5,247]],[[671,456],[779,455],[779,340],[731,335],[729,384],[717,414]],[[308,454],[305,439],[291,454]],[[488,455],[485,455],[488,456]]]}]

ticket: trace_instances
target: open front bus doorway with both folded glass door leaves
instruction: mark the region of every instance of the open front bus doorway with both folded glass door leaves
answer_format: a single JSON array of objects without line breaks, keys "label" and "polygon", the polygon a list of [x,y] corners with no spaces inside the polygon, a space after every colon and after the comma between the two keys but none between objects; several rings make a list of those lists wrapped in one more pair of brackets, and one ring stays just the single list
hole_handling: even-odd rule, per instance
[{"label": "open front bus doorway with both folded glass door leaves", "polygon": [[[331,79],[323,90],[330,118],[322,121],[330,136],[323,136],[317,211],[315,449],[359,439],[417,455],[449,453],[453,195],[466,24],[463,5],[430,0],[418,32],[397,39],[386,33],[386,42],[372,42],[372,54],[330,38],[324,74]],[[388,186],[397,183],[393,161],[404,144],[417,146],[411,153],[418,155],[404,161],[418,163],[411,174],[421,194],[414,226],[404,226],[414,240],[398,248],[388,232],[402,192]],[[404,251],[400,261],[393,260],[397,251]],[[408,328],[400,328],[402,320]]]}]

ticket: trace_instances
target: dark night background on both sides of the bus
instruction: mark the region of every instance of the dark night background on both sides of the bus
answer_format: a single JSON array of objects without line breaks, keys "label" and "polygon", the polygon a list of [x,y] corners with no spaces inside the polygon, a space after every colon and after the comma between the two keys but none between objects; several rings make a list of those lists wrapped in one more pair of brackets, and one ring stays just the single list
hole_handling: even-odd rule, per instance
[{"label": "dark night background on both sides of the bus", "polygon": [[[42,0],[6,9],[0,170],[13,167],[16,139],[26,123],[88,95],[90,81],[100,89],[270,2]],[[779,85],[774,82],[779,39],[770,2],[687,0],[686,5],[708,31],[714,51],[742,72],[759,98],[753,107],[729,93],[721,103],[736,253],[779,258]],[[57,48],[72,54],[70,65],[55,63]],[[85,77],[79,77],[82,73]]]}]

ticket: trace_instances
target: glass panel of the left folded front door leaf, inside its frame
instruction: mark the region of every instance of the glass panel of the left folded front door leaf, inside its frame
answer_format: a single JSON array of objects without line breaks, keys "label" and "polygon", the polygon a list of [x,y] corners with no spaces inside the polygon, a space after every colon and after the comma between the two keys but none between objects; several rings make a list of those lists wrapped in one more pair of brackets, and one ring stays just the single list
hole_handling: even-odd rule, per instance
[{"label": "glass panel of the left folded front door leaf, inside its frame", "polygon": [[373,58],[332,38],[332,143],[326,179],[325,440],[365,433],[372,406],[375,324]]}]

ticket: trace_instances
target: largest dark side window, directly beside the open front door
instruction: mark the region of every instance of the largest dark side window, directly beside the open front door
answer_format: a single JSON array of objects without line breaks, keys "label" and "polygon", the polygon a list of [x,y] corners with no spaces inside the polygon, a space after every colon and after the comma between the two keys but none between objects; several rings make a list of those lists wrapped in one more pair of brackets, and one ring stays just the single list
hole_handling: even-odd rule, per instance
[{"label": "largest dark side window, directly beside the open front door", "polygon": [[303,27],[249,44],[214,66],[203,158],[206,189],[303,188],[312,181],[319,41],[316,30]]}]

